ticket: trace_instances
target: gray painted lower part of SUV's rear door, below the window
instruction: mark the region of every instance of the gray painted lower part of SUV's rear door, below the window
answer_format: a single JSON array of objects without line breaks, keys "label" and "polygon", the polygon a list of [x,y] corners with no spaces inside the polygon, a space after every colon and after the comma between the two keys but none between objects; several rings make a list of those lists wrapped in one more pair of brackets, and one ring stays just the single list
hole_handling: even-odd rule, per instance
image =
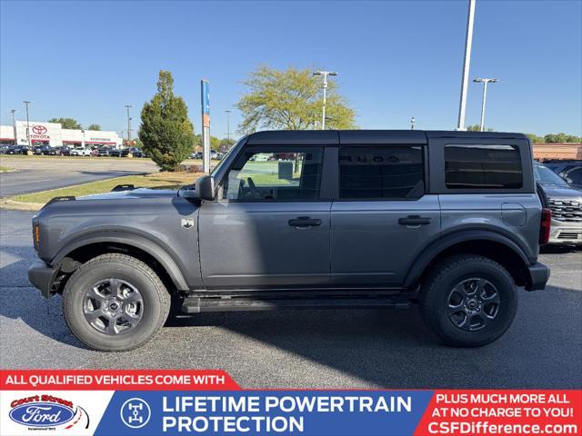
[{"label": "gray painted lower part of SUV's rear door, below the window", "polygon": [[[408,215],[427,225],[398,223]],[[440,234],[437,195],[413,201],[334,202],[331,210],[331,281],[399,286],[427,243]]]}]

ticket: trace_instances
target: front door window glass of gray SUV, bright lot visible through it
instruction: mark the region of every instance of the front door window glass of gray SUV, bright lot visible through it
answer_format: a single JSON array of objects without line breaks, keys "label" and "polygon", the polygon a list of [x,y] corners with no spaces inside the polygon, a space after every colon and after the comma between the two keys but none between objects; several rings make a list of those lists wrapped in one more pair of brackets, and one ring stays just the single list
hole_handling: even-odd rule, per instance
[{"label": "front door window glass of gray SUV, bright lot visible through it", "polygon": [[316,200],[322,149],[248,150],[226,175],[222,198],[234,201]]}]

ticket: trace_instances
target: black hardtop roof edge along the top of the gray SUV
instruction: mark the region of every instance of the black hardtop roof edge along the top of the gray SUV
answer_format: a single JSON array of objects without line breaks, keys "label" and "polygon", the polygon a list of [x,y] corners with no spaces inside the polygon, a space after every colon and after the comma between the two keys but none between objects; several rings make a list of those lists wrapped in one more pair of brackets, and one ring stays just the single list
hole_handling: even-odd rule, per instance
[{"label": "black hardtop roof edge along the top of the gray SUV", "polygon": [[249,134],[246,144],[426,144],[428,138],[527,139],[527,136],[447,130],[268,130]]}]

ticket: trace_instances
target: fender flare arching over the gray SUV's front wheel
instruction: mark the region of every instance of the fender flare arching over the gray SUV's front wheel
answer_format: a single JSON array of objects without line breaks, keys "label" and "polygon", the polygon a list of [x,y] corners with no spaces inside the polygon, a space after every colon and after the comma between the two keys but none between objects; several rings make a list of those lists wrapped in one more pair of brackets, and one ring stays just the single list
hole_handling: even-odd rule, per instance
[{"label": "fender flare arching over the gray SUV's front wheel", "polygon": [[162,267],[166,270],[172,282],[176,285],[178,291],[188,291],[189,287],[186,283],[184,274],[167,251],[160,246],[160,244],[150,241],[144,236],[129,232],[94,232],[86,233],[82,236],[75,238],[74,241],[70,243],[65,243],[65,245],[56,253],[55,257],[51,261],[51,264],[56,264],[61,262],[68,253],[75,251],[78,248],[84,247],[85,245],[91,245],[93,243],[123,243],[125,245],[130,245],[139,250],[142,250],[159,262]]}]

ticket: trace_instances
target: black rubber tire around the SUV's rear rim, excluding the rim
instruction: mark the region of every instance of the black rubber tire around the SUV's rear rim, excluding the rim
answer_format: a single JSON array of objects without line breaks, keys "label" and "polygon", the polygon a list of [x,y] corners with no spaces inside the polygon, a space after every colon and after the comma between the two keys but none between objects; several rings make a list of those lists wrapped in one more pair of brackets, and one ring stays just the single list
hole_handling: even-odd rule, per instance
[{"label": "black rubber tire around the SUV's rear rim, excluding the rim", "polygon": [[[492,283],[499,295],[497,316],[482,330],[467,332],[449,319],[449,293],[459,282],[480,277]],[[517,312],[517,288],[513,277],[499,263],[478,255],[455,255],[437,265],[423,281],[418,296],[420,312],[428,326],[447,345],[479,347],[502,336]]]}]

